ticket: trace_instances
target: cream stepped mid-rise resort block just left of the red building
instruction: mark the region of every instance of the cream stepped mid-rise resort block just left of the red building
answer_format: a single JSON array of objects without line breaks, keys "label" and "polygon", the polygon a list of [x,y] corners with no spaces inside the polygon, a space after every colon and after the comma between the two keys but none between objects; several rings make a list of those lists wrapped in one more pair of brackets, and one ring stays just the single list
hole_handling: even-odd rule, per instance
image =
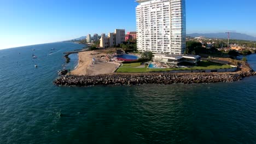
[{"label": "cream stepped mid-rise resort block just left of the red building", "polygon": [[115,29],[114,33],[109,33],[108,37],[101,34],[100,47],[114,47],[123,44],[125,41],[125,29]]}]

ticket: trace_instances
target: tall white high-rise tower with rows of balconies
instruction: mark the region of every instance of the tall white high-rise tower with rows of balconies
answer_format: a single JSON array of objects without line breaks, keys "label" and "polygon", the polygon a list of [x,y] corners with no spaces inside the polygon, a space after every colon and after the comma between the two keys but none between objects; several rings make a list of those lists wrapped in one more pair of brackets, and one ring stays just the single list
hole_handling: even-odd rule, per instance
[{"label": "tall white high-rise tower with rows of balconies", "polygon": [[186,47],[185,0],[137,0],[139,51],[183,54]]}]

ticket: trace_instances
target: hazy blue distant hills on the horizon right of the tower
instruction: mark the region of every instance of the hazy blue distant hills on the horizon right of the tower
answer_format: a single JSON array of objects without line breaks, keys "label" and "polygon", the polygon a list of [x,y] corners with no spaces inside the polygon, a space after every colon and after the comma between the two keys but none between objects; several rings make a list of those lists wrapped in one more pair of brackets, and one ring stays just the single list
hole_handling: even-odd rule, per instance
[{"label": "hazy blue distant hills on the horizon right of the tower", "polygon": [[[190,37],[206,37],[206,38],[218,38],[218,39],[227,39],[228,34],[226,33],[192,33],[187,34],[187,36]],[[239,40],[256,40],[256,37],[253,37],[251,35],[242,34],[242,33],[231,33],[230,39],[239,39]]]}]

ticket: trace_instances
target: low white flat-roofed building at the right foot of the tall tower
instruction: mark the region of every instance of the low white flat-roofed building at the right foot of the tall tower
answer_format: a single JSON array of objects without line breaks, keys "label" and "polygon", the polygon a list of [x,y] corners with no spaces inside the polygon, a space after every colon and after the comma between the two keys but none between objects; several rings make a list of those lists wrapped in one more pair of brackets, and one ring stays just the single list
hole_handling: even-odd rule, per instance
[{"label": "low white flat-roofed building at the right foot of the tall tower", "polygon": [[154,61],[159,61],[166,64],[178,65],[182,62],[196,65],[201,61],[201,56],[198,55],[175,55],[175,54],[154,54]]}]

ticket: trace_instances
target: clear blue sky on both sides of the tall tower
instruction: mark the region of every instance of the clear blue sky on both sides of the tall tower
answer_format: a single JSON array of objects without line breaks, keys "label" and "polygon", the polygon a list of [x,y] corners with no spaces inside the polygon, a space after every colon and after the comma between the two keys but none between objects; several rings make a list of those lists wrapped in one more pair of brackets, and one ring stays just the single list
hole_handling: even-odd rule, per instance
[{"label": "clear blue sky on both sides of the tall tower", "polygon": [[[0,0],[0,49],[51,43],[115,28],[136,31],[135,0]],[[256,37],[255,0],[187,0],[187,33]]]}]

